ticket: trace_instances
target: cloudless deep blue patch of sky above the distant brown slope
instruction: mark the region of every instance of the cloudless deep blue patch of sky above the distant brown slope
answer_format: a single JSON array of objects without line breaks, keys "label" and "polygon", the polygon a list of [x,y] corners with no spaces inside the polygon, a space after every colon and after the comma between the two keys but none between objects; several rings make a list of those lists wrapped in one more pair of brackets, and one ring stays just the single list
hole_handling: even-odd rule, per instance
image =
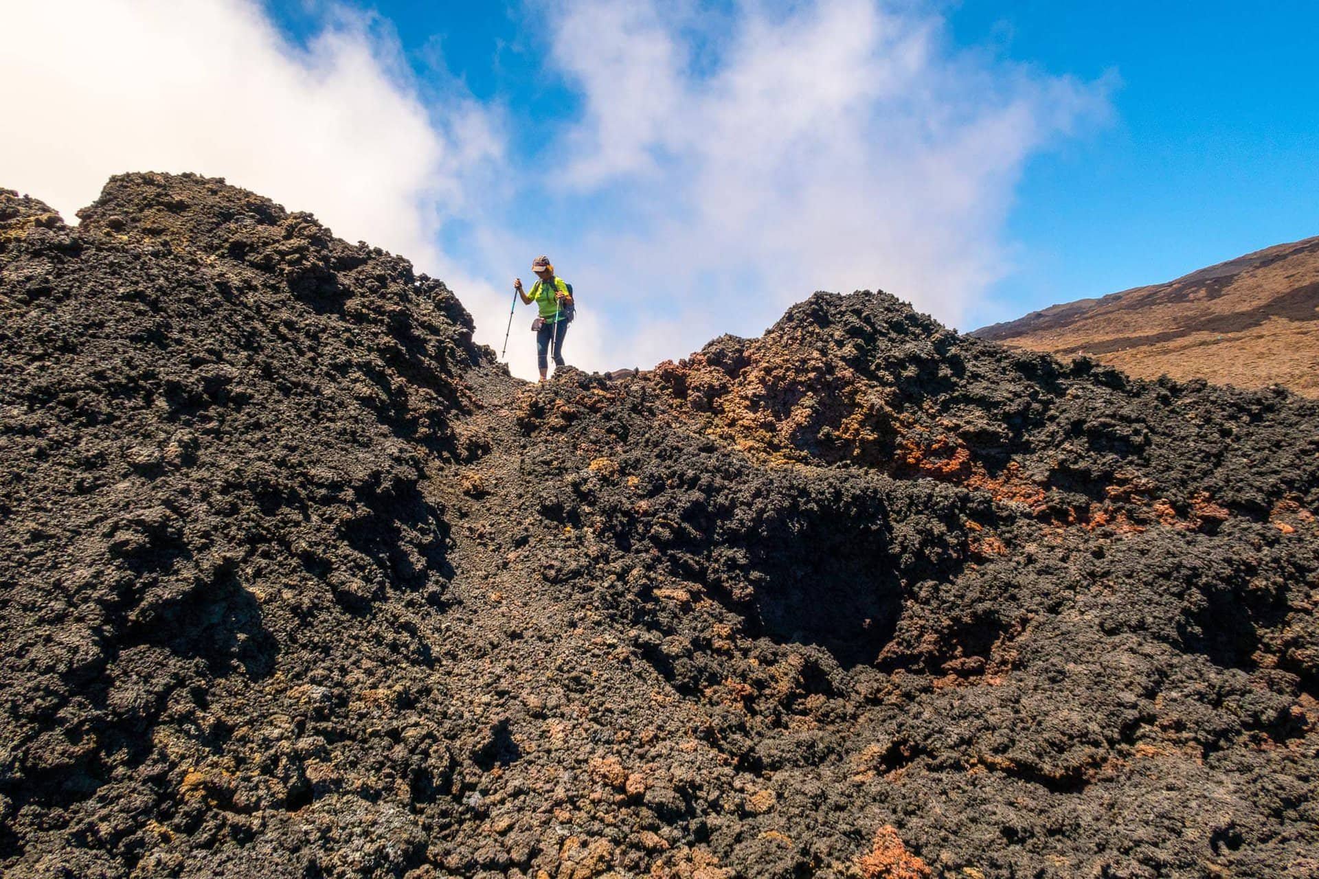
[{"label": "cloudless deep blue patch of sky above the distant brown slope", "polygon": [[997,311],[1319,235],[1319,4],[967,0],[948,20],[959,43],[1121,79],[1108,125],[1028,162]]}]

